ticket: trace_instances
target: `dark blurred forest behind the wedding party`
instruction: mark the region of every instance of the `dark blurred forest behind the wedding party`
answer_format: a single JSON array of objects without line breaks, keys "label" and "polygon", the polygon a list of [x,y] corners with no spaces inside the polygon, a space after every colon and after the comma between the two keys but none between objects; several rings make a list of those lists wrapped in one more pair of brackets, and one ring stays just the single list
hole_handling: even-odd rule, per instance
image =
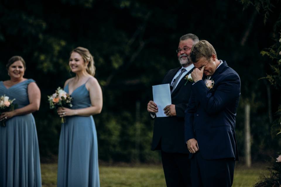
[{"label": "dark blurred forest behind the wedding party", "polygon": [[9,79],[5,65],[11,56],[25,59],[25,78],[34,79],[42,92],[40,110],[34,113],[41,161],[56,161],[61,124],[47,95],[73,76],[69,52],[88,48],[104,98],[102,113],[94,116],[99,159],[159,162],[159,152],[150,151],[153,121],[147,103],[152,85],[179,66],[179,38],[193,33],[213,44],[218,58],[240,75],[236,133],[241,160],[247,103],[252,160],[269,160],[280,151],[272,126],[280,127],[281,91],[260,79],[276,73],[270,67],[276,59],[261,51],[279,42],[280,10],[278,0],[2,0],[0,80]]}]

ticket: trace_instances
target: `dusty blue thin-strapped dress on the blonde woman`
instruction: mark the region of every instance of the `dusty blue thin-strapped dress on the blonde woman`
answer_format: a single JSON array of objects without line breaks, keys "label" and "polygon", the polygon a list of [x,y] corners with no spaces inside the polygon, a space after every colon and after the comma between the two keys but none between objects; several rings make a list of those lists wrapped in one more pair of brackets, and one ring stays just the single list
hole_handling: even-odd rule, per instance
[{"label": "dusty blue thin-strapped dress on the blonde woman", "polygon": [[[71,109],[91,106],[85,84],[71,94]],[[64,90],[69,93],[68,84]],[[92,116],[67,116],[66,122],[61,124],[57,186],[100,186],[97,132]]]}]

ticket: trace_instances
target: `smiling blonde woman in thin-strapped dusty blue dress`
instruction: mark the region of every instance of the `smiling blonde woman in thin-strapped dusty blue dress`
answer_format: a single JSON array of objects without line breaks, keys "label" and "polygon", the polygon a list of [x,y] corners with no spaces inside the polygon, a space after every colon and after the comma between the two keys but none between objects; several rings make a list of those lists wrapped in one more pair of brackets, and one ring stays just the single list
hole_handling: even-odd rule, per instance
[{"label": "smiling blonde woman in thin-strapped dusty blue dress", "polygon": [[88,49],[70,53],[69,66],[75,77],[66,80],[64,90],[73,98],[72,108],[59,108],[61,125],[57,186],[99,187],[97,132],[92,115],[102,110],[102,90],[93,77],[95,66]]}]

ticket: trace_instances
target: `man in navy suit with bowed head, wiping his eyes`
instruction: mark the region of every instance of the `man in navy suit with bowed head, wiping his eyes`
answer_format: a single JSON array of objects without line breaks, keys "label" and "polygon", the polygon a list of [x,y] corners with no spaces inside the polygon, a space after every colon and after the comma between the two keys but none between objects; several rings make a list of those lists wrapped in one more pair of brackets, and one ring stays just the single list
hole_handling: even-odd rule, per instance
[{"label": "man in navy suit with bowed head, wiping his eyes", "polygon": [[[235,117],[240,78],[214,47],[201,40],[191,49],[195,69],[185,115],[185,141],[191,158],[192,186],[232,186],[238,160]],[[205,79],[205,80],[204,80]]]}]

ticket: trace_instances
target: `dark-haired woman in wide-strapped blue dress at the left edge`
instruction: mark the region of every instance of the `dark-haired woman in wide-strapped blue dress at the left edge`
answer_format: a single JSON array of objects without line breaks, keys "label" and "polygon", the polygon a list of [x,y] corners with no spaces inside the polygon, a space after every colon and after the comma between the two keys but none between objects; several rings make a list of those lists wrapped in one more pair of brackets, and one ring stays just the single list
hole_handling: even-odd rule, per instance
[{"label": "dark-haired woman in wide-strapped blue dress at the left edge", "polygon": [[32,79],[23,78],[25,61],[13,56],[6,65],[10,80],[0,82],[0,95],[16,99],[16,109],[3,112],[0,120],[0,186],[41,185],[37,132],[32,112],[39,110],[41,93]]}]

